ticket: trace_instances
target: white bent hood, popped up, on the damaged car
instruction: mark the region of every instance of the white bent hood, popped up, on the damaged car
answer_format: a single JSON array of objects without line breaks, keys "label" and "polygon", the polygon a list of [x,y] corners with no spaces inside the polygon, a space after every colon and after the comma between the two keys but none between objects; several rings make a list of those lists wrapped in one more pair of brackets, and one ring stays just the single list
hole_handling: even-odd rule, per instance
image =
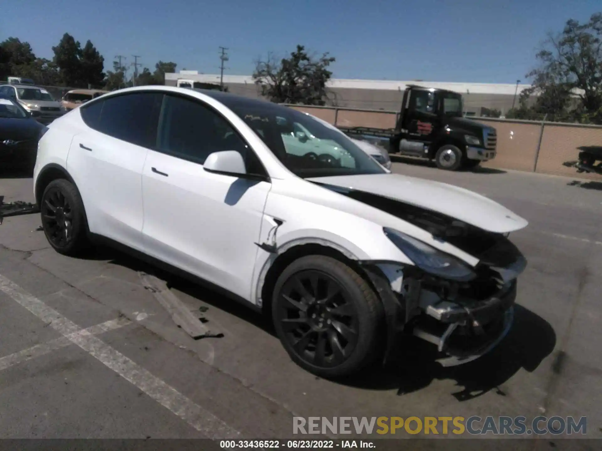
[{"label": "white bent hood, popped up, on the damaged car", "polygon": [[320,185],[367,192],[442,213],[488,232],[507,233],[526,227],[528,222],[485,196],[448,185],[401,174],[314,177]]}]

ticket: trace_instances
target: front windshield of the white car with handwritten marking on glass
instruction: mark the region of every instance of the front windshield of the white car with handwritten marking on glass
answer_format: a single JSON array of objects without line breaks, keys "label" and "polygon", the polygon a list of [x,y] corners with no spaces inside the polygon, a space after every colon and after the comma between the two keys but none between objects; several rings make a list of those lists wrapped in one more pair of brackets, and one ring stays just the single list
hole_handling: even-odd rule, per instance
[{"label": "front windshield of the white car with handwritten marking on glass", "polygon": [[226,105],[299,177],[385,173],[346,135],[307,114],[270,103],[229,103]]}]

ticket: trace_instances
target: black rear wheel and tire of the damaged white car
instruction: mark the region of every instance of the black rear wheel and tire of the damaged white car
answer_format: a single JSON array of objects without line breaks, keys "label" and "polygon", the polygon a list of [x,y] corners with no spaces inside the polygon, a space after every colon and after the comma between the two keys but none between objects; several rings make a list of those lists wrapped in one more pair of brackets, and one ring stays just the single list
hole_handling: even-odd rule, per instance
[{"label": "black rear wheel and tire of the damaged white car", "polygon": [[46,186],[40,215],[44,235],[58,253],[74,257],[90,248],[84,203],[69,180],[52,180]]}]

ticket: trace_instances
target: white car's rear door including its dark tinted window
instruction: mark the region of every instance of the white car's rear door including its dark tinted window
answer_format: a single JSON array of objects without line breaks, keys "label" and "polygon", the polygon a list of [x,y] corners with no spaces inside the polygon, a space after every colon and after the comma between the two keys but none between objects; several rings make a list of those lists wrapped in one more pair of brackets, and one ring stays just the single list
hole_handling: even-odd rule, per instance
[{"label": "white car's rear door including its dark tinted window", "polygon": [[81,192],[90,232],[143,250],[142,170],[157,141],[162,93],[122,94],[81,106],[67,171]]}]

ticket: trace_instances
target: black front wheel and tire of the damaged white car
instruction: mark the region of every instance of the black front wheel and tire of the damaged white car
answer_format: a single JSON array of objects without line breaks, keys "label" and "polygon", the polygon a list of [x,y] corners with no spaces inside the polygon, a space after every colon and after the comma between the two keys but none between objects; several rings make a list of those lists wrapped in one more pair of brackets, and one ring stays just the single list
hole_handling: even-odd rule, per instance
[{"label": "black front wheel and tire of the damaged white car", "polygon": [[297,365],[323,378],[349,376],[374,361],[382,318],[370,285],[331,257],[295,260],[274,287],[272,319],[282,345]]}]

